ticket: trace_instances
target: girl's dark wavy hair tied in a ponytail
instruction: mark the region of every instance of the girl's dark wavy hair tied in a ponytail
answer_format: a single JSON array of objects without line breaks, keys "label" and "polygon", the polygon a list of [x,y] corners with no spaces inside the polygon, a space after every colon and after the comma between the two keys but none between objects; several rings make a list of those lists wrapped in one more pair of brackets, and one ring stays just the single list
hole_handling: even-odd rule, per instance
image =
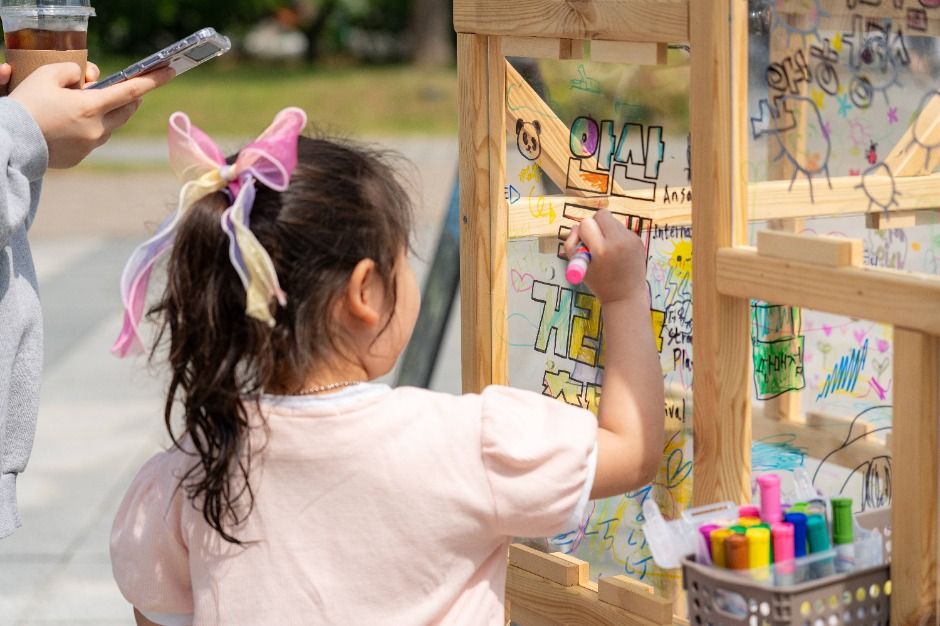
[{"label": "girl's dark wavy hair tied in a ponytail", "polygon": [[[254,505],[246,404],[258,409],[266,390],[299,391],[315,367],[341,354],[333,304],[359,261],[375,261],[394,303],[395,264],[409,246],[412,207],[388,154],[307,137],[297,152],[289,188],[257,184],[251,213],[251,231],[287,293],[286,307],[272,304],[276,325],[245,314],[245,289],[219,221],[230,204],[224,192],[186,214],[166,289],[150,311],[160,327],[152,359],[169,337],[164,421],[174,445],[198,457],[180,485],[206,522],[236,544],[233,531]],[[179,435],[172,417],[177,402]]]}]

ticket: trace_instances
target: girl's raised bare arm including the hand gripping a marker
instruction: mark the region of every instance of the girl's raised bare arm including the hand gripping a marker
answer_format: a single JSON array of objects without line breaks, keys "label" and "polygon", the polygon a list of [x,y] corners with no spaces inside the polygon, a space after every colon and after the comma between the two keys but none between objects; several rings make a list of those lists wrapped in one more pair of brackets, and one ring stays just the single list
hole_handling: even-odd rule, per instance
[{"label": "girl's raised bare arm including the hand gripping a marker", "polygon": [[608,211],[573,229],[569,257],[581,241],[591,251],[586,283],[604,316],[604,386],[592,498],[631,491],[653,480],[664,439],[663,377],[653,340],[640,238]]}]

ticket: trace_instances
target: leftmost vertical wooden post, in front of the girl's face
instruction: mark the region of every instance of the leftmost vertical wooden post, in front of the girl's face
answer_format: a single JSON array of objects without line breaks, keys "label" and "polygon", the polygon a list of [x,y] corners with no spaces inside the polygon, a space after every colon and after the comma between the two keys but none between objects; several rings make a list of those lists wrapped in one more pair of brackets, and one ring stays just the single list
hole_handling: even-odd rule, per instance
[{"label": "leftmost vertical wooden post, in front of the girl's face", "polygon": [[469,393],[506,382],[506,74],[495,37],[459,34],[457,61],[461,367]]}]

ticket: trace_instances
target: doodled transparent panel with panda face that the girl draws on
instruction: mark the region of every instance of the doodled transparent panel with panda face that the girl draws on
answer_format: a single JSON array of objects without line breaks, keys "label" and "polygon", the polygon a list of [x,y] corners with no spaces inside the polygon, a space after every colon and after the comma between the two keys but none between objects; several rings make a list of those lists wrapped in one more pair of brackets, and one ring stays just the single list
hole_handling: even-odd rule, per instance
[{"label": "doodled transparent panel with panda face that the girl draws on", "polygon": [[[649,250],[650,323],[667,400],[666,446],[653,484],[592,502],[574,532],[546,547],[591,563],[592,576],[627,574],[670,595],[678,573],[652,562],[641,507],[675,517],[692,498],[692,243],[689,57],[630,66],[511,59],[507,83],[506,202],[510,212],[510,384],[597,410],[603,323],[597,299],[565,278],[559,236],[610,209]],[[539,100],[533,100],[533,94]]]}]

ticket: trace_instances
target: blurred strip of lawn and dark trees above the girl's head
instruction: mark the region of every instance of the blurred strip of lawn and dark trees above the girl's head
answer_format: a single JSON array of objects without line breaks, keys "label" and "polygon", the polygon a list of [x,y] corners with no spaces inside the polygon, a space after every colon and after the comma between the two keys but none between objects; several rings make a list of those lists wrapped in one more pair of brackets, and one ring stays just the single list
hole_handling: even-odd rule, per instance
[{"label": "blurred strip of lawn and dark trees above the girl's head", "polygon": [[[184,110],[212,133],[263,128],[299,106],[333,134],[457,131],[449,0],[93,0],[89,58],[104,74],[213,26],[233,51],[147,96],[122,136],[165,133]],[[416,68],[419,71],[416,71]]]}]

